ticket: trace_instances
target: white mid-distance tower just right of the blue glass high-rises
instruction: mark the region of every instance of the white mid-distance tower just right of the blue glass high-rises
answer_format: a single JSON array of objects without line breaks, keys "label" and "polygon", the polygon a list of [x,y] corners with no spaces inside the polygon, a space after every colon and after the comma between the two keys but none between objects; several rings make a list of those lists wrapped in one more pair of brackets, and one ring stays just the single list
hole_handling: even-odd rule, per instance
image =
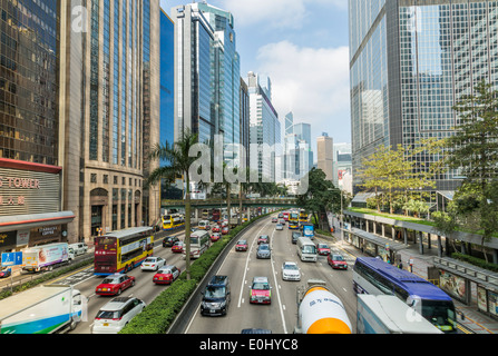
[{"label": "white mid-distance tower just right of the blue glass high-rises", "polygon": [[282,154],[277,147],[280,145],[276,145],[281,140],[279,115],[270,100],[270,89],[263,89],[258,76],[252,71],[247,73],[247,87],[251,115],[250,168],[257,170],[261,181],[276,181],[275,157]]}]

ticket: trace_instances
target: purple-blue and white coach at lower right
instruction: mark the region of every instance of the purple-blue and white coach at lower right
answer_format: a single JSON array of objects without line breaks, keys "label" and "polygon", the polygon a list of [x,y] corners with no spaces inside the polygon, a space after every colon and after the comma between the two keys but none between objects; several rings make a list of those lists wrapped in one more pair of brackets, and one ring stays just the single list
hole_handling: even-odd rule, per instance
[{"label": "purple-blue and white coach at lower right", "polygon": [[394,295],[441,332],[457,333],[453,300],[442,289],[380,258],[357,258],[353,289],[357,294]]}]

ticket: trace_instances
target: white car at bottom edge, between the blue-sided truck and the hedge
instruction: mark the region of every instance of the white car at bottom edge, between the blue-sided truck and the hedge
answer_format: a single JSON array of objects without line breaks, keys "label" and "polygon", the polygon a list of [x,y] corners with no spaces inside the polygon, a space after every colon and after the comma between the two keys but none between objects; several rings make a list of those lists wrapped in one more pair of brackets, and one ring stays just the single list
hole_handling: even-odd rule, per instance
[{"label": "white car at bottom edge, between the blue-sided truck and the hedge", "polygon": [[146,304],[135,297],[116,297],[100,308],[94,320],[92,334],[117,334]]}]

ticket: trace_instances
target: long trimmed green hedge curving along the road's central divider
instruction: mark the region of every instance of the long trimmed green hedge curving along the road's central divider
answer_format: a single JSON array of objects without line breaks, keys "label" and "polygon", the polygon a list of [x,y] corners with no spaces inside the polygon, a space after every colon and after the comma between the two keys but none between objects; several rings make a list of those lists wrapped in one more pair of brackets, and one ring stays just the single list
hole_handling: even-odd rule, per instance
[{"label": "long trimmed green hedge curving along the road's central divider", "polygon": [[119,334],[165,334],[225,246],[247,225],[267,215],[270,214],[258,216],[231,229],[228,235],[214,243],[191,265],[189,280],[186,279],[186,273],[183,271],[167,289],[160,293],[140,314],[134,317]]}]

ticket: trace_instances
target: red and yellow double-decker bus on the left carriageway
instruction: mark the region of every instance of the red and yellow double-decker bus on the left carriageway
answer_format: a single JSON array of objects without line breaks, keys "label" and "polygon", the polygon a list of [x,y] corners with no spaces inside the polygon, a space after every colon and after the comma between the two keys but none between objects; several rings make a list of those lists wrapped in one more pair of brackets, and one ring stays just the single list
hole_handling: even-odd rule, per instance
[{"label": "red and yellow double-decker bus on the left carriageway", "polygon": [[126,273],[141,264],[154,251],[153,228],[131,227],[97,236],[94,274],[107,276]]}]

